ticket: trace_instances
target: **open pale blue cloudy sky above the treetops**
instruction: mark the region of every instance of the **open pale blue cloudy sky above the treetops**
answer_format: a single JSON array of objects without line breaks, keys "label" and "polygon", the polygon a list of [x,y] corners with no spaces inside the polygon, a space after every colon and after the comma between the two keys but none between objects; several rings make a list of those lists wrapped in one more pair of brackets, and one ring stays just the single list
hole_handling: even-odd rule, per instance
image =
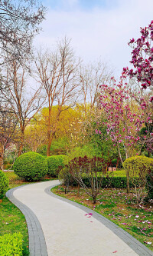
[{"label": "open pale blue cloudy sky above the treetops", "polygon": [[34,46],[54,48],[67,36],[75,55],[85,64],[99,58],[121,75],[129,66],[132,48],[128,42],[138,38],[140,27],[153,19],[153,0],[42,0],[47,7],[42,32]]}]

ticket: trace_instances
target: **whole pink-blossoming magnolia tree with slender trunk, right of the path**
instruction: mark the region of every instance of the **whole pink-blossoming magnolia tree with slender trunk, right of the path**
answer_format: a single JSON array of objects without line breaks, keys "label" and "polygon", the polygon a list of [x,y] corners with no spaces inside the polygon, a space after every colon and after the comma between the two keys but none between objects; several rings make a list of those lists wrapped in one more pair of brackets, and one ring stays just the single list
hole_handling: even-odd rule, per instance
[{"label": "whole pink-blossoming magnolia tree with slender trunk, right of the path", "polygon": [[[132,98],[134,95],[128,89],[125,78],[123,74],[117,85],[114,78],[111,85],[101,85],[100,95],[101,108],[106,115],[107,133],[113,141],[113,146],[118,148],[122,164],[125,159],[122,159],[121,149],[124,149],[126,159],[135,155],[135,148],[141,139],[139,133],[142,127],[152,122],[145,99],[139,99],[140,105],[134,101]],[[153,137],[153,133],[147,132],[147,134],[149,138]],[[144,135],[144,141],[147,136]],[[127,192],[129,192],[128,176]]]}]

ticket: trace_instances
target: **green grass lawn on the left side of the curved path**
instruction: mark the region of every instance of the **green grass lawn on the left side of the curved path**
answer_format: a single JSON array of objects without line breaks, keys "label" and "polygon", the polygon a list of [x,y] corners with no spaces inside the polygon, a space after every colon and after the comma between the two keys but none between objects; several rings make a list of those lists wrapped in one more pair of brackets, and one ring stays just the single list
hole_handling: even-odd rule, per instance
[{"label": "green grass lawn on the left side of the curved path", "polygon": [[[11,171],[5,172],[5,175],[9,178],[9,189],[30,183],[18,178]],[[24,215],[5,197],[0,200],[0,235],[15,232],[23,235],[23,256],[28,256],[28,228]]]}]

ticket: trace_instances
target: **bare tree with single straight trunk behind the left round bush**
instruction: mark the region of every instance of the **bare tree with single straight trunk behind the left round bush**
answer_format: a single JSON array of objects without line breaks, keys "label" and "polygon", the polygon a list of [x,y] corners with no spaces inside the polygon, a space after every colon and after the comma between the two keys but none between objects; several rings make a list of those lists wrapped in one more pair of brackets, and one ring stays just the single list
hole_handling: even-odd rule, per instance
[{"label": "bare tree with single straight trunk behind the left round bush", "polygon": [[5,66],[3,80],[7,90],[2,90],[2,98],[18,120],[21,133],[18,155],[21,155],[23,149],[25,128],[45,101],[40,95],[41,87],[37,89],[28,87],[26,84],[28,79],[30,75],[25,65],[12,61]]}]

